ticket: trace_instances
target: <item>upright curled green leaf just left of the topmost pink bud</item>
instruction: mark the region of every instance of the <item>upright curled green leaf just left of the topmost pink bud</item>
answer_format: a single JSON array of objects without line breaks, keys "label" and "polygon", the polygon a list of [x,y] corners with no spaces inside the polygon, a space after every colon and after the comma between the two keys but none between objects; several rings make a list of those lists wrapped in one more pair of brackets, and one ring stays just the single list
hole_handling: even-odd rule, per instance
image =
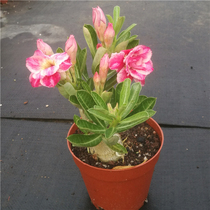
[{"label": "upright curled green leaf just left of the topmost pink bud", "polygon": [[87,45],[90,49],[92,58],[94,58],[95,54],[96,54],[96,45],[98,43],[95,29],[91,25],[85,24],[83,26],[83,34],[84,34],[85,40],[87,42]]}]

